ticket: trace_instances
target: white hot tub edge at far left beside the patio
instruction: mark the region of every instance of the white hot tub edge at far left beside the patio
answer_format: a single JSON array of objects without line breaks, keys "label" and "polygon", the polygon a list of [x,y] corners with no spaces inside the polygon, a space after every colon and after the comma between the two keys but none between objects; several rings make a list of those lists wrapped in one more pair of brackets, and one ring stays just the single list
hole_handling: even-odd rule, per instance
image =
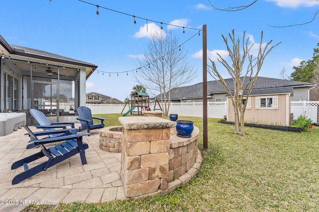
[{"label": "white hot tub edge at far left beside the patio", "polygon": [[0,113],[0,136],[6,136],[25,125],[25,113]]}]

